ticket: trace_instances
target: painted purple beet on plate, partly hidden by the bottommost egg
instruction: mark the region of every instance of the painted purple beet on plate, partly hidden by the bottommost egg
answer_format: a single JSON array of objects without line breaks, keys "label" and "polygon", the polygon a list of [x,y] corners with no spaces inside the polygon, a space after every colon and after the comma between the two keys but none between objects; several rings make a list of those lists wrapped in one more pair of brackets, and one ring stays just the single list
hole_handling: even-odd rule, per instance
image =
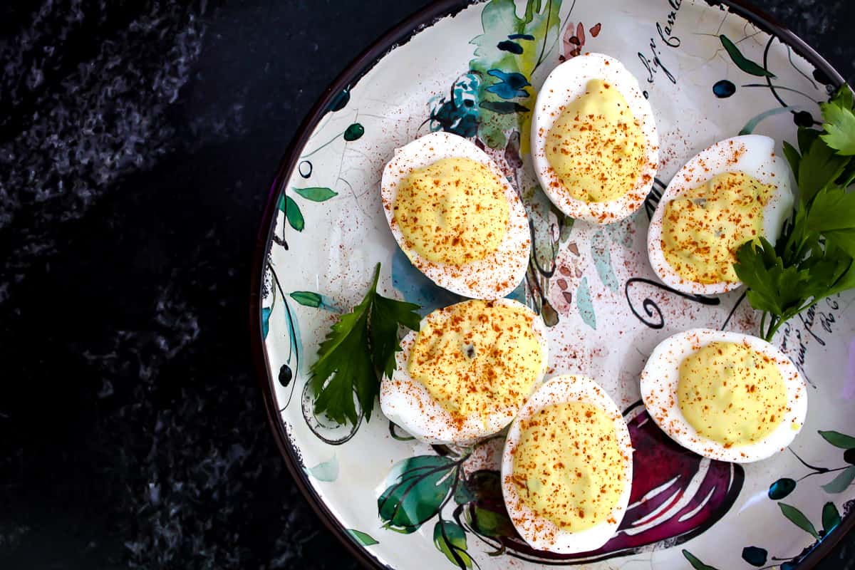
[{"label": "painted purple beet on plate, partly hidden by the bottommost egg", "polygon": [[742,489],[740,465],[712,461],[675,444],[650,419],[639,402],[624,412],[635,449],[633,486],[621,526],[600,549],[556,555],[532,549],[514,531],[502,501],[498,472],[470,475],[466,486],[475,500],[457,508],[457,518],[487,544],[524,560],[597,561],[632,554],[668,541],[681,544],[721,519]]}]

